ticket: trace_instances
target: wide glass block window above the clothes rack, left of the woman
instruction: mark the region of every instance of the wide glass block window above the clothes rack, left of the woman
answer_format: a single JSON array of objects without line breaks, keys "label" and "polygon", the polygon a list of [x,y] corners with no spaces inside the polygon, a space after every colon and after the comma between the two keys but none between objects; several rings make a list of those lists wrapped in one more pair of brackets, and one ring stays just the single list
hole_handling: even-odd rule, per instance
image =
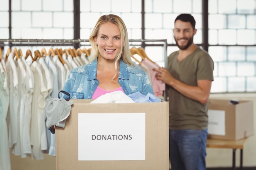
[{"label": "wide glass block window above the clothes rack, left of the woman", "polygon": [[12,0],[12,39],[73,39],[73,0]]}]

